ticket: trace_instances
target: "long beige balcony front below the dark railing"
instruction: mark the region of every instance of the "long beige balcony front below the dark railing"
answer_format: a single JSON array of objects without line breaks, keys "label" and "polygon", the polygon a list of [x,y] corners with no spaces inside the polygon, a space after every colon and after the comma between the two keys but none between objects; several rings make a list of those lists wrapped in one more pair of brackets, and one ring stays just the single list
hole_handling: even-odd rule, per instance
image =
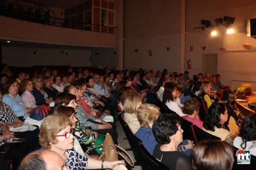
[{"label": "long beige balcony front below the dark railing", "polygon": [[48,26],[0,16],[0,39],[113,48],[115,34]]}]

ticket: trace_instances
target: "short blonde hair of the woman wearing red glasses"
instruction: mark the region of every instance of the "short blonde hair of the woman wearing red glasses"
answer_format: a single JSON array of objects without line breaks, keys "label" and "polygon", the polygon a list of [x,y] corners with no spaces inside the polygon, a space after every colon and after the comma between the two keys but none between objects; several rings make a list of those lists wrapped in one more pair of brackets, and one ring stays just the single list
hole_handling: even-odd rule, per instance
[{"label": "short blonde hair of the woman wearing red glasses", "polygon": [[[57,144],[57,134],[68,125],[72,126],[72,121],[64,115],[52,114],[45,118],[39,133],[39,144],[44,149],[50,149],[51,144]],[[51,143],[51,144],[50,144]]]}]

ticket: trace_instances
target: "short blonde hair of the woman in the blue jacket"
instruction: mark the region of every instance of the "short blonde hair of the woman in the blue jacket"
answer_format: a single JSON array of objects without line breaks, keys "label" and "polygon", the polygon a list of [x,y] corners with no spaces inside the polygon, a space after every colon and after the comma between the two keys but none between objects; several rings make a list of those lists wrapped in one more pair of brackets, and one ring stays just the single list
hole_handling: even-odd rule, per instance
[{"label": "short blonde hair of the woman in the blue jacket", "polygon": [[149,124],[153,124],[160,114],[160,108],[148,103],[141,105],[137,109],[137,119],[141,127],[150,127]]}]

